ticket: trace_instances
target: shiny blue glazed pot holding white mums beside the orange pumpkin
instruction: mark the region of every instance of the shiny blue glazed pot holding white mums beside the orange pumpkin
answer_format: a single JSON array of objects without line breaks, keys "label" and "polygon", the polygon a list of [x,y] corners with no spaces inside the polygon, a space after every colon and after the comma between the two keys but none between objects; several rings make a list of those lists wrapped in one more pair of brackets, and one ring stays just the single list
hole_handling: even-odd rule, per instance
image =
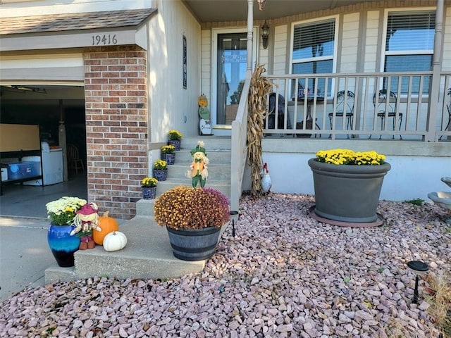
[{"label": "shiny blue glazed pot holding white mums beside the orange pumpkin", "polygon": [[80,238],[77,235],[70,236],[73,225],[51,224],[47,232],[47,242],[51,253],[54,254],[56,263],[63,268],[74,265],[73,253],[78,250]]}]

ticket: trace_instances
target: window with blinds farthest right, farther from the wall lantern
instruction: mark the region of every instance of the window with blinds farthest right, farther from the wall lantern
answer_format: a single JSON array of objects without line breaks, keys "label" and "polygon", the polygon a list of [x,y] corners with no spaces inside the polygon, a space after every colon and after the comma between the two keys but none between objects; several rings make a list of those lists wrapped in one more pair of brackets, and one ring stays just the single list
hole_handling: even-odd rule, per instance
[{"label": "window with blinds farthest right, farther from the wall lantern", "polygon": [[[385,38],[385,72],[431,70],[435,34],[434,11],[389,12]],[[403,79],[401,92],[407,93],[409,82]],[[386,86],[385,86],[386,87]],[[397,91],[398,81],[392,80],[390,89]],[[429,79],[423,84],[427,94]],[[414,78],[412,90],[418,93],[419,77]]]}]

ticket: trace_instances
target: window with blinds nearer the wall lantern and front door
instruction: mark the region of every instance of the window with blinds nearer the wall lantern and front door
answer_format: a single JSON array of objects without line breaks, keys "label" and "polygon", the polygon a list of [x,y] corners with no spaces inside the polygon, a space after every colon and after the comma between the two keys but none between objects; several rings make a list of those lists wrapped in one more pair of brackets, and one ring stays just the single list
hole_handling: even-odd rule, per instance
[{"label": "window with blinds nearer the wall lantern and front door", "polygon": [[[333,58],[336,54],[335,21],[336,18],[330,18],[294,26],[292,74],[333,73]],[[312,88],[313,80],[309,80],[307,86]],[[321,91],[324,80],[320,79],[318,86]],[[302,84],[302,87],[305,85]]]}]

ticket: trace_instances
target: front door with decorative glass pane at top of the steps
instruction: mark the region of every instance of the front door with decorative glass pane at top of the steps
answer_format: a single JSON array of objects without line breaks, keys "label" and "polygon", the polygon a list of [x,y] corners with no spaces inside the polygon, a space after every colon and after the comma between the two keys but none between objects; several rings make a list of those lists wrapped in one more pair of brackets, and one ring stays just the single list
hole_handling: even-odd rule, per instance
[{"label": "front door with decorative glass pane at top of the steps", "polygon": [[247,33],[217,35],[216,59],[216,127],[231,125],[238,104],[247,68]]}]

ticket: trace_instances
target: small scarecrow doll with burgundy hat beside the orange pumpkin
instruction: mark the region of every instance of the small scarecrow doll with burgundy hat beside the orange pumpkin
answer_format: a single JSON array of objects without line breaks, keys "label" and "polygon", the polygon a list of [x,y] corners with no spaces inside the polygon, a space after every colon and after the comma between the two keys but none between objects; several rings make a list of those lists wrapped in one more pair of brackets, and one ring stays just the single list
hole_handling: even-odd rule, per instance
[{"label": "small scarecrow doll with burgundy hat beside the orange pumpkin", "polygon": [[75,229],[70,232],[73,236],[77,234],[80,237],[80,246],[78,249],[86,250],[93,249],[96,244],[94,239],[92,239],[92,230],[101,231],[99,227],[99,214],[97,211],[99,208],[95,203],[85,204],[77,211],[75,217],[73,218],[73,223],[75,224]]}]

